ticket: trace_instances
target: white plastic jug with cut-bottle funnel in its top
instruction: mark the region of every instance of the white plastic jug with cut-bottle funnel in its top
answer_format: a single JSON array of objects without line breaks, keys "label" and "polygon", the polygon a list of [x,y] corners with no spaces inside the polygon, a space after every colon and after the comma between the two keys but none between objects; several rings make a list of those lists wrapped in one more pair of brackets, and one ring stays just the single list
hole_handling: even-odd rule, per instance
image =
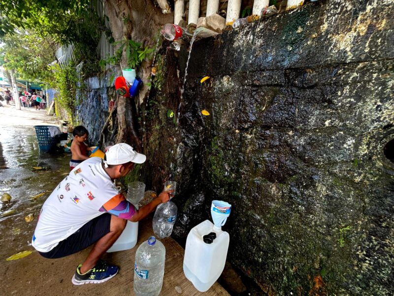
[{"label": "white plastic jug with cut-bottle funnel in its top", "polygon": [[214,200],[212,222],[205,220],[190,230],[183,259],[183,272],[200,292],[207,291],[222,274],[226,264],[230,235],[222,230],[229,217],[231,205]]}]

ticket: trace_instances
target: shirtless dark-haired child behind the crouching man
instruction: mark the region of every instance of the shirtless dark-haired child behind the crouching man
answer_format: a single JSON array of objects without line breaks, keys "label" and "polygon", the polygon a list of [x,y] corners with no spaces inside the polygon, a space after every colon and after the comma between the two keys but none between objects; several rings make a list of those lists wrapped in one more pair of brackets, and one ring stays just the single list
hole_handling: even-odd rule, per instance
[{"label": "shirtless dark-haired child behind the crouching man", "polygon": [[72,131],[72,135],[74,136],[74,140],[71,143],[70,171],[82,161],[89,158],[87,151],[92,151],[92,148],[84,143],[89,135],[85,127],[82,125],[76,126]]}]

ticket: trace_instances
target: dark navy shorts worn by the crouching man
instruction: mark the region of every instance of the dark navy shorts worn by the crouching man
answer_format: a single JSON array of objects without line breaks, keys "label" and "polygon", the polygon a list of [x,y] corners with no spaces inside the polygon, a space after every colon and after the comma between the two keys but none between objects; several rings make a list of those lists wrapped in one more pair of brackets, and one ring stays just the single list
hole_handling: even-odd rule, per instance
[{"label": "dark navy shorts worn by the crouching man", "polygon": [[101,237],[109,232],[111,214],[104,213],[99,217],[87,222],[75,233],[62,240],[49,252],[38,252],[42,257],[56,259],[66,257],[86,249],[96,243]]}]

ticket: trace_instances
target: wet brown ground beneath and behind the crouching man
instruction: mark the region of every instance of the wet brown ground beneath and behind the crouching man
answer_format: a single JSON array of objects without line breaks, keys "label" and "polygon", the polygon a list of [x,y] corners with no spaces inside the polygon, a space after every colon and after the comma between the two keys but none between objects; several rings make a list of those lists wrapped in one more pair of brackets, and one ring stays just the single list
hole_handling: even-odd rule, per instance
[{"label": "wet brown ground beneath and behind the crouching man", "polygon": [[[71,277],[76,266],[87,256],[89,248],[62,259],[44,259],[37,252],[6,261],[22,251],[33,251],[31,239],[36,225],[25,217],[39,210],[53,188],[68,174],[70,155],[40,152],[34,125],[52,124],[57,120],[45,111],[16,110],[0,107],[0,195],[11,195],[10,202],[0,204],[0,295],[108,295],[133,293],[133,264],[136,247],[122,252],[107,253],[105,260],[120,266],[119,274],[99,285],[73,286]],[[39,167],[41,169],[34,169]],[[44,194],[32,198],[40,193]],[[152,231],[152,217],[139,223],[137,246]],[[161,295],[229,295],[218,283],[207,292],[199,293],[183,274],[184,250],[171,238],[162,240],[166,248],[164,285]]]}]

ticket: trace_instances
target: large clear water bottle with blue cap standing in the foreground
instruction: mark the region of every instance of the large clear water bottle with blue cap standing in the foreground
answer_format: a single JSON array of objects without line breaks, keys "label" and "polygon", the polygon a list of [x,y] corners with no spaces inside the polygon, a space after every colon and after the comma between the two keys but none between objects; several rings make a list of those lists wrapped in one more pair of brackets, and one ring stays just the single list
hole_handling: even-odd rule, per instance
[{"label": "large clear water bottle with blue cap standing in the foreground", "polygon": [[135,253],[134,293],[136,296],[158,296],[163,286],[165,248],[151,236]]}]

